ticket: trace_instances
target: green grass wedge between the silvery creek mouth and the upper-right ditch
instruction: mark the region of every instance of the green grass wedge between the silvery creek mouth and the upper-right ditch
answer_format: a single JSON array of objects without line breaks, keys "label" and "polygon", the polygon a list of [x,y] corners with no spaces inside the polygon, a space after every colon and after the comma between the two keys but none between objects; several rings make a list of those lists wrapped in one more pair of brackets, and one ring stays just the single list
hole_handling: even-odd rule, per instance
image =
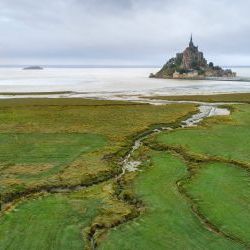
[{"label": "green grass wedge between the silvery creek mouth and the upper-right ditch", "polygon": [[158,141],[186,148],[188,151],[220,156],[248,163],[250,161],[250,108],[234,106],[231,119],[211,118],[200,128],[178,129],[162,133]]}]

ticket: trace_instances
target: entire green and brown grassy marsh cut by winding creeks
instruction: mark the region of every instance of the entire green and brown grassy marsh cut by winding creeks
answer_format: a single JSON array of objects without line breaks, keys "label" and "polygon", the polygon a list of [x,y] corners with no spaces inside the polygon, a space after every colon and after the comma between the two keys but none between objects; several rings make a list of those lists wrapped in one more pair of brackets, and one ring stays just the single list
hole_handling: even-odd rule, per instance
[{"label": "entire green and brown grassy marsh cut by winding creeks", "polygon": [[250,106],[223,107],[1,100],[0,249],[248,249]]}]

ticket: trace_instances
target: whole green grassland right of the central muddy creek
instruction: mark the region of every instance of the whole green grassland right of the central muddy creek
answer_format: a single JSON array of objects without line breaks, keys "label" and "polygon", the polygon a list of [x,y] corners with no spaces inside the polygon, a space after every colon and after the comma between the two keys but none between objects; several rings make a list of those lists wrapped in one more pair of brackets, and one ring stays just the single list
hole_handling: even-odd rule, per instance
[{"label": "whole green grassland right of the central muddy creek", "polygon": [[[145,213],[111,230],[100,249],[248,249],[249,112],[249,105],[235,105],[230,118],[209,118],[198,128],[154,136],[151,143],[175,146],[185,160],[167,152],[153,154],[153,166],[128,184],[144,201]],[[183,150],[193,160],[182,156]],[[204,161],[220,158],[198,164],[196,155]],[[245,169],[223,159],[242,162]]]}]

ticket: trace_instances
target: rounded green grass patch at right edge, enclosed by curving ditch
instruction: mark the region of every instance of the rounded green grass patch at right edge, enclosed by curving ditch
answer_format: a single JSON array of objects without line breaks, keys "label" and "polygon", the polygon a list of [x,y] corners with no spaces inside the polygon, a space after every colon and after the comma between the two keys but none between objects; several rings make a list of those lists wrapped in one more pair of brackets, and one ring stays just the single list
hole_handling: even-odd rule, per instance
[{"label": "rounded green grass patch at right edge, enclosed by curving ditch", "polygon": [[249,171],[233,165],[202,166],[185,188],[200,211],[221,231],[250,245]]}]

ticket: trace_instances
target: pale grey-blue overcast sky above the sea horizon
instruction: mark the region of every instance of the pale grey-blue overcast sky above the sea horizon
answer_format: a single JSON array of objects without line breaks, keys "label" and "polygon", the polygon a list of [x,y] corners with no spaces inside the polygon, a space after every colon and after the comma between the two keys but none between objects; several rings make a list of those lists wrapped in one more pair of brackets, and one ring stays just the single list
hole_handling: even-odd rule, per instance
[{"label": "pale grey-blue overcast sky above the sea horizon", "polygon": [[249,0],[0,0],[0,64],[250,65]]}]

